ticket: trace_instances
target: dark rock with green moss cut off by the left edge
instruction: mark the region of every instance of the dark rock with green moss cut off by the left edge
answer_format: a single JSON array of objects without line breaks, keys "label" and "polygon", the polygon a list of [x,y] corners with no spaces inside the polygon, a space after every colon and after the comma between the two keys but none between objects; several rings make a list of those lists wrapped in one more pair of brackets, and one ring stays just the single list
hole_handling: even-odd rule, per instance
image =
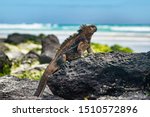
[{"label": "dark rock with green moss cut off by the left edge", "polygon": [[11,71],[11,65],[12,64],[8,56],[4,52],[0,51],[0,76],[9,74]]}]

